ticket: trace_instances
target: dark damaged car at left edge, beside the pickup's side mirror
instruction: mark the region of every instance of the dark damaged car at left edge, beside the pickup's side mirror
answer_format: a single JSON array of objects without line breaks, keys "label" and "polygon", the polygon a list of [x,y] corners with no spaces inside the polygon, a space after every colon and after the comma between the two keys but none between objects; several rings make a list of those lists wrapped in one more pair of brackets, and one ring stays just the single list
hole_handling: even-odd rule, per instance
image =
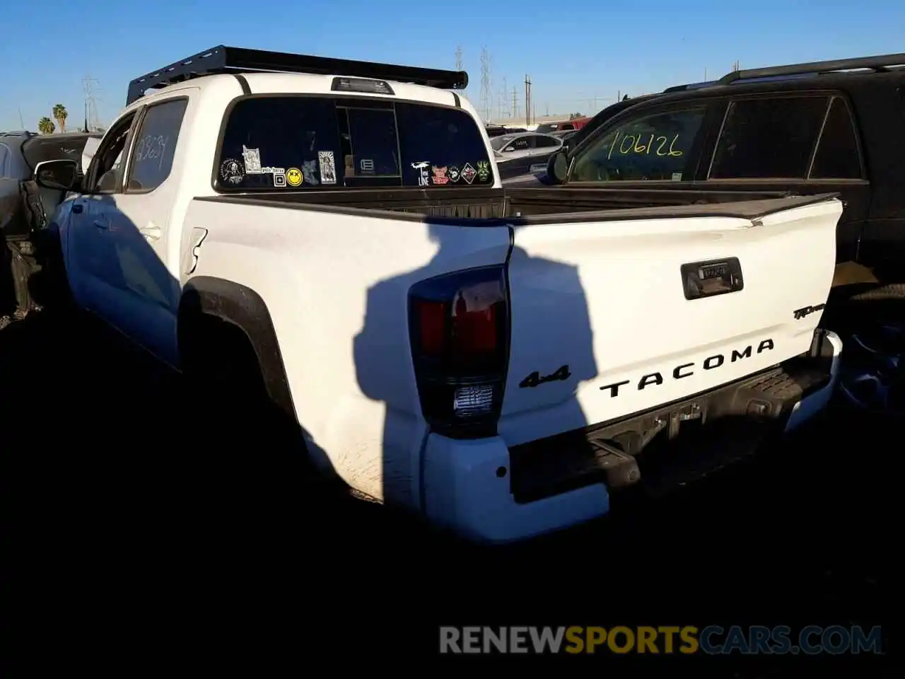
[{"label": "dark damaged car at left edge, beside the pickup's side mirror", "polygon": [[43,229],[47,215],[65,195],[64,190],[39,187],[34,168],[44,160],[75,160],[100,133],[0,132],[0,317],[24,314],[33,301],[28,281],[36,271],[33,234]]}]

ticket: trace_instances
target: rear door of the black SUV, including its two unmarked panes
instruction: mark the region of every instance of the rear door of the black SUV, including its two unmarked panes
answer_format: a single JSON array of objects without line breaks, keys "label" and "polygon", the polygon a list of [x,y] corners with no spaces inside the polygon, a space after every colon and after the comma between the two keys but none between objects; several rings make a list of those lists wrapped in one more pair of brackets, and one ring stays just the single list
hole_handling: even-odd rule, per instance
[{"label": "rear door of the black SUV, including its two unmarked panes", "polygon": [[871,186],[843,95],[816,91],[728,100],[708,163],[711,189],[838,192],[845,208],[836,262],[857,258]]}]

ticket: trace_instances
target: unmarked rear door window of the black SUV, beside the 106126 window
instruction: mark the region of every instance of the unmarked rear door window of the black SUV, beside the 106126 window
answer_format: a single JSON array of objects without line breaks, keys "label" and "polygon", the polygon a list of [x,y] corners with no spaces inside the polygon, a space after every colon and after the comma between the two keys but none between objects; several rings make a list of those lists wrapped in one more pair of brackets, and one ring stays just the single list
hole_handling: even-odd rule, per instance
[{"label": "unmarked rear door window of the black SUV, beside the 106126 window", "polygon": [[804,179],[827,103],[826,97],[732,101],[710,179]]}]

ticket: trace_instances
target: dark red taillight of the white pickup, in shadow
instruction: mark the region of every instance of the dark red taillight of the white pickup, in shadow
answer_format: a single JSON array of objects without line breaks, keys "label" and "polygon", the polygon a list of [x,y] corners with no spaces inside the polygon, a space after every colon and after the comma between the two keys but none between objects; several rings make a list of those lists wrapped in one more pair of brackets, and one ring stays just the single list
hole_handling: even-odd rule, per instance
[{"label": "dark red taillight of the white pickup, in shadow", "polygon": [[416,283],[409,336],[422,412],[434,431],[454,438],[495,434],[509,351],[504,267]]}]

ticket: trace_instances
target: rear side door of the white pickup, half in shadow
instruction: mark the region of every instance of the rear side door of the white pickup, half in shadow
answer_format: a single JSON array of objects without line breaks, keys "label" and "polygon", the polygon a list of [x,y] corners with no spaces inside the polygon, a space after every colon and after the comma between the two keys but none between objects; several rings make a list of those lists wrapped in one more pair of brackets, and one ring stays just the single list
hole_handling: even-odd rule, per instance
[{"label": "rear side door of the white pickup, half in shadow", "polygon": [[187,105],[182,96],[154,101],[141,111],[122,192],[102,206],[121,272],[118,294],[129,300],[129,316],[119,320],[119,328],[172,365],[180,285],[179,272],[168,268],[178,257],[167,256],[179,237],[169,230],[178,179],[171,170]]}]

